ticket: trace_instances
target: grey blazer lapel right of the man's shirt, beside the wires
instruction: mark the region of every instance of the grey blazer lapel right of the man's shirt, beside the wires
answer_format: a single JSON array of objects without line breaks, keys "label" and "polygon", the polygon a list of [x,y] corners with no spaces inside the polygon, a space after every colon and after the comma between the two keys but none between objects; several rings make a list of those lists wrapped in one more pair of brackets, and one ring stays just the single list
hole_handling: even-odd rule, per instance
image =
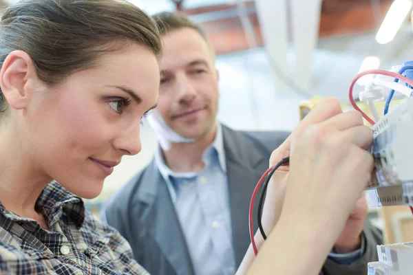
[{"label": "grey blazer lapel right of the man's shirt, beside the wires", "polygon": [[[247,140],[244,135],[225,126],[222,127],[222,133],[229,183],[233,248],[235,263],[238,266],[250,245],[248,230],[249,203],[257,180],[268,168],[268,160],[264,159],[255,150],[253,143]],[[263,169],[264,171],[262,171]],[[254,209],[257,209],[257,200],[255,200]],[[254,228],[256,229],[255,217]]]}]

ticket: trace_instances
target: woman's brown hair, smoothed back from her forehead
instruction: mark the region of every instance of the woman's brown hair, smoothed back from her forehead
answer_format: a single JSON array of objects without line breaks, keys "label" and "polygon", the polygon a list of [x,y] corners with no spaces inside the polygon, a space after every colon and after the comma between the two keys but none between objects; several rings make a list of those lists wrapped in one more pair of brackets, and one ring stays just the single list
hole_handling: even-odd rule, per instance
[{"label": "woman's brown hair, smoothed back from her forehead", "polygon": [[[125,50],[131,43],[158,58],[162,52],[156,23],[127,1],[22,0],[1,17],[0,68],[10,52],[22,50],[32,58],[39,79],[56,85],[92,67],[104,52]],[[0,112],[6,109],[4,101],[0,89]]]}]

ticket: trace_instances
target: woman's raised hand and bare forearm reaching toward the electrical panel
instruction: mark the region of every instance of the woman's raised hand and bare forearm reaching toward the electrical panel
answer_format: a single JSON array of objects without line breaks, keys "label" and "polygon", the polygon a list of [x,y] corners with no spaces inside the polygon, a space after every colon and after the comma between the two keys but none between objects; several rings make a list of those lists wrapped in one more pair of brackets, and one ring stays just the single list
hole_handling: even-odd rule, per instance
[{"label": "woman's raised hand and bare forearm reaching toward the electrical panel", "polygon": [[370,179],[371,142],[361,115],[343,113],[338,100],[311,111],[271,155],[271,166],[288,155],[290,164],[268,185],[262,217],[268,239],[256,234],[258,256],[253,261],[248,250],[237,274],[252,261],[248,274],[318,274]]}]

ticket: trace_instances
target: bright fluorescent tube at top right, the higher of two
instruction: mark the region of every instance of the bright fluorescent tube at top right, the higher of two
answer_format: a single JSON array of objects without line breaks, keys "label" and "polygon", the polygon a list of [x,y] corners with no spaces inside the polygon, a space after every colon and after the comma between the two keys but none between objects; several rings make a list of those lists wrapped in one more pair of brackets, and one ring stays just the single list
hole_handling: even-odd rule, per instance
[{"label": "bright fluorescent tube at top right, the higher of two", "polygon": [[394,39],[409,14],[410,8],[412,8],[412,0],[394,0],[376,34],[378,43],[386,44]]}]

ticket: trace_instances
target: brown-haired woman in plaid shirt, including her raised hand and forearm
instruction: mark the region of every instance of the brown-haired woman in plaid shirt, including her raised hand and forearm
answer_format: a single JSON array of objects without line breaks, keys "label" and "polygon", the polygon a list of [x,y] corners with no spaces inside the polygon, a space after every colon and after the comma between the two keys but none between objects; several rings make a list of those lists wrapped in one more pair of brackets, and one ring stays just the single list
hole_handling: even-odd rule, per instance
[{"label": "brown-haired woman in plaid shirt, including her raised hand and forearm", "polygon": [[[140,151],[140,120],[156,106],[158,97],[161,48],[153,21],[122,1],[23,0],[4,12],[0,23],[1,274],[147,274],[132,259],[125,239],[85,212],[80,197],[96,197],[120,158]],[[343,114],[327,100],[275,151],[273,162],[291,150],[292,172],[282,212],[284,190],[277,188],[285,186],[273,182],[268,190],[264,221],[268,232],[277,233],[269,235],[250,274],[290,274],[303,267],[306,274],[317,274],[366,184],[367,179],[359,178],[370,175],[371,159],[362,147],[371,142],[371,131],[360,124],[359,115]],[[334,136],[340,146],[328,142],[326,148],[320,147]],[[354,153],[335,151],[343,148]],[[306,157],[298,159],[300,154]],[[360,164],[357,169],[353,162]],[[299,168],[311,171],[310,175],[303,177]],[[342,169],[326,173],[322,168]],[[337,190],[343,186],[343,175],[346,182],[354,179],[354,184],[345,188],[348,192],[341,198],[343,190]],[[283,174],[277,179],[286,182]],[[308,188],[328,192],[332,199],[314,205],[311,199],[319,197],[301,192]],[[335,202],[340,208],[333,215],[328,207]],[[299,212],[297,204],[308,207]],[[317,214],[307,217],[308,211]],[[286,222],[283,217],[291,218]],[[301,250],[298,258],[280,254],[279,245],[286,245],[280,237],[292,237],[296,245],[312,244],[305,240],[313,240],[317,222],[324,219],[334,220],[335,230],[319,248]],[[296,227],[295,221],[311,230],[288,232],[286,228]],[[275,265],[277,254],[282,261]],[[304,261],[300,267],[286,264],[299,257],[315,261]],[[240,273],[253,259],[248,252]]]}]

